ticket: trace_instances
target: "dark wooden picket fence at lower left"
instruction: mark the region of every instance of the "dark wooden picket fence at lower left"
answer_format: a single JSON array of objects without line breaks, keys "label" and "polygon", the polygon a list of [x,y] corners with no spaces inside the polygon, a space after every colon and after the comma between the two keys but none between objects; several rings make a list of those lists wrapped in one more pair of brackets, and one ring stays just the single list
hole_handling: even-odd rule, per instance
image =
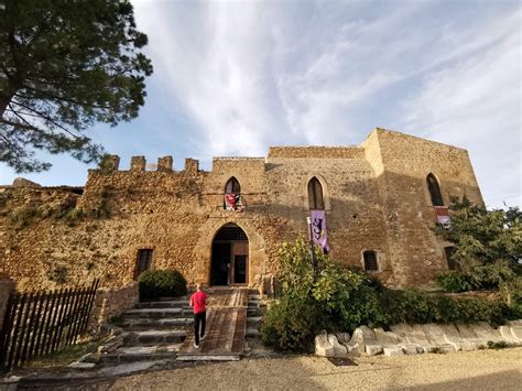
[{"label": "dark wooden picket fence at lower left", "polygon": [[0,372],[76,343],[85,333],[99,280],[90,286],[12,293],[0,330]]}]

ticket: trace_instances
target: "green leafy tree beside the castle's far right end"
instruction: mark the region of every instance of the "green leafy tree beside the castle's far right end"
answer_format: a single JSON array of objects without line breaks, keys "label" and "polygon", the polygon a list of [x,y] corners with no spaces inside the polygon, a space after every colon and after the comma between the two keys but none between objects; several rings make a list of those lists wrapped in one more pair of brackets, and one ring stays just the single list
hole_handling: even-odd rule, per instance
[{"label": "green leafy tree beside the castle's far right end", "polygon": [[468,199],[452,200],[452,222],[437,228],[455,243],[459,274],[481,287],[499,286],[510,301],[521,285],[522,213],[519,207],[487,210]]}]

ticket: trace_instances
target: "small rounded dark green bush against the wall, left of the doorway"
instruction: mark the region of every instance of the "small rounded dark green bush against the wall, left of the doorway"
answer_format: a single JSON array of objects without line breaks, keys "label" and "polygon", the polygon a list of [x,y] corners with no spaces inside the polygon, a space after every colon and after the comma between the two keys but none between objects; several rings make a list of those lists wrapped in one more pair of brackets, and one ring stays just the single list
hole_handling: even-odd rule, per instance
[{"label": "small rounded dark green bush against the wall, left of the doorway", "polygon": [[187,293],[187,282],[177,270],[148,270],[140,275],[138,281],[141,300],[175,297]]}]

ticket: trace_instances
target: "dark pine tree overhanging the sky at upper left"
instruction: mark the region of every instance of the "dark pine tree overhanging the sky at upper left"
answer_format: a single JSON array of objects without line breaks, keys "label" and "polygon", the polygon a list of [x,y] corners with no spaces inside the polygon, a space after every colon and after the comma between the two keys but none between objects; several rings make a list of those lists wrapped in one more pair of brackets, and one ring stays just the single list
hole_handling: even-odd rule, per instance
[{"label": "dark pine tree overhanging the sky at upper left", "polygon": [[35,150],[99,161],[85,131],[138,116],[151,62],[120,0],[0,0],[0,162],[48,170]]}]

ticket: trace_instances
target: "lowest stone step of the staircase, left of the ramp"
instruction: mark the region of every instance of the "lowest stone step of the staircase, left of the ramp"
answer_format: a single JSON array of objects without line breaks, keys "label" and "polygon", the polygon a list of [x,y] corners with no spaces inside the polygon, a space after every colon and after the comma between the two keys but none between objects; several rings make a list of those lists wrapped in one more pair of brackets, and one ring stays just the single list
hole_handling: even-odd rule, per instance
[{"label": "lowest stone step of the staircase, left of the ramp", "polygon": [[175,360],[182,344],[121,347],[110,354],[93,355],[89,360],[105,363]]}]

